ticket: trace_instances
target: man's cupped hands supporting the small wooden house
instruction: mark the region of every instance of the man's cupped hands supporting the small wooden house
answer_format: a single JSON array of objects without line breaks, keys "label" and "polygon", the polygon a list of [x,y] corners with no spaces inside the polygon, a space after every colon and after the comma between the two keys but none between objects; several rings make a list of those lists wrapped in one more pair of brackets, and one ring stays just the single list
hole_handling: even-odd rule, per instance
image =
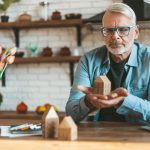
[{"label": "man's cupped hands supporting the small wooden house", "polygon": [[109,107],[118,107],[128,96],[128,91],[124,88],[117,88],[108,95],[93,94],[92,88],[77,86],[77,89],[86,94],[85,103],[89,108],[109,108]]}]

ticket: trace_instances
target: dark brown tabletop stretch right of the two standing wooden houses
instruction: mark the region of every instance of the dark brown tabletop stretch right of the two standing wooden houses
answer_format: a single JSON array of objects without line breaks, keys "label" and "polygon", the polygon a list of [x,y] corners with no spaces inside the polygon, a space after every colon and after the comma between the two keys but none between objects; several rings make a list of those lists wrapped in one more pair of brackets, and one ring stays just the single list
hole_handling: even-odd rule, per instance
[{"label": "dark brown tabletop stretch right of the two standing wooden houses", "polygon": [[79,140],[150,142],[150,132],[126,122],[86,122],[79,125]]}]

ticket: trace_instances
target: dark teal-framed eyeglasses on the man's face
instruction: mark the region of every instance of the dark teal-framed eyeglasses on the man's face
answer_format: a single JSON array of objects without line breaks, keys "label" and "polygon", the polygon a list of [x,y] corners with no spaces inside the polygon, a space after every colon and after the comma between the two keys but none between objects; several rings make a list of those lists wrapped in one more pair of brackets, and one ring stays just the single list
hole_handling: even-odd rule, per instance
[{"label": "dark teal-framed eyeglasses on the man's face", "polygon": [[113,35],[114,32],[117,32],[119,36],[123,37],[123,36],[128,36],[131,29],[134,27],[135,26],[121,26],[121,27],[117,27],[117,28],[103,27],[103,28],[101,28],[101,32],[102,32],[103,36],[110,36],[110,35]]}]

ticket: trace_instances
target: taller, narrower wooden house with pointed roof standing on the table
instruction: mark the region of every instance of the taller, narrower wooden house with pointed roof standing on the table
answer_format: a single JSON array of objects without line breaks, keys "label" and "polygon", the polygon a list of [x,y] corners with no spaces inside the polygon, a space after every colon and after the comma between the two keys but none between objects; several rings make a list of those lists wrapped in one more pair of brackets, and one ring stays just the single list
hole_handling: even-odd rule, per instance
[{"label": "taller, narrower wooden house with pointed roof standing on the table", "polygon": [[54,107],[51,106],[44,112],[42,116],[42,125],[44,138],[58,137],[59,117]]}]

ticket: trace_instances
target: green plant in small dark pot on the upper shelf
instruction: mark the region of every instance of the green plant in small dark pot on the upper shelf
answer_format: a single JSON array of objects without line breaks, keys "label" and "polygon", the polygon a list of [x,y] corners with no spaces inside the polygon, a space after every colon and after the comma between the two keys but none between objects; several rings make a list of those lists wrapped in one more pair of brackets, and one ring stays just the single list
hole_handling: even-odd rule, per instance
[{"label": "green plant in small dark pot on the upper shelf", "polygon": [[20,0],[0,0],[0,11],[4,14],[1,16],[2,22],[8,22],[9,16],[6,15],[7,9],[12,3],[19,2]]}]

